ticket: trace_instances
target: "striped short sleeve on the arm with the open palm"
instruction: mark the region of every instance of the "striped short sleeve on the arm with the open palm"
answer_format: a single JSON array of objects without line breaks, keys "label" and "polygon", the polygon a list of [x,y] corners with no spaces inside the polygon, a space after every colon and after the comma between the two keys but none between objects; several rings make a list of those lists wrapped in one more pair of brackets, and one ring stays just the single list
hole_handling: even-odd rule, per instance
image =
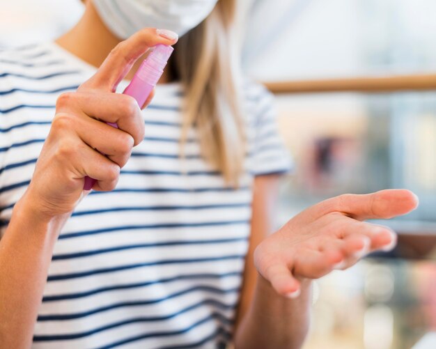
[{"label": "striped short sleeve on the arm with the open palm", "polygon": [[293,159],[279,134],[274,96],[263,86],[256,89],[256,103],[250,118],[254,126],[250,145],[251,173],[254,176],[290,173]]}]

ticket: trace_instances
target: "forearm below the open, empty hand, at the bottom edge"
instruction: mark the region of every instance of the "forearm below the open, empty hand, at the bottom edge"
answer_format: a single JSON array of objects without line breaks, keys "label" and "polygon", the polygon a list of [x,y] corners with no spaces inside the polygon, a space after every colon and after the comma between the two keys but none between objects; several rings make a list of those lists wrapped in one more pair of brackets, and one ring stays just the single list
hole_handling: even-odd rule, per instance
[{"label": "forearm below the open, empty hand, at the bottom edge", "polygon": [[235,348],[300,348],[309,329],[310,304],[310,281],[303,281],[301,295],[290,299],[259,276],[254,300],[235,334]]}]

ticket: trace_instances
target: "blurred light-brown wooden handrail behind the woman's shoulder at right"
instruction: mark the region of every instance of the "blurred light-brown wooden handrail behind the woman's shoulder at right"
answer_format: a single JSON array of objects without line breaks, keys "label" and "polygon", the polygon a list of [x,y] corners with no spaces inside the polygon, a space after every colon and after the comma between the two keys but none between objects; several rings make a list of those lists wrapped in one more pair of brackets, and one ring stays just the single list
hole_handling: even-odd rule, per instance
[{"label": "blurred light-brown wooden handrail behind the woman's shoulder at right", "polygon": [[436,74],[265,82],[272,93],[436,91]]}]

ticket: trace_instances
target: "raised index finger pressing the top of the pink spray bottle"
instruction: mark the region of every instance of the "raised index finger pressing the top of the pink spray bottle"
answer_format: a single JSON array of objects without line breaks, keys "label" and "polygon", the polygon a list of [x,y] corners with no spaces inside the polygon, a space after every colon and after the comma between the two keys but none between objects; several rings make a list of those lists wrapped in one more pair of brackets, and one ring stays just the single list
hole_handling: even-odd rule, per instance
[{"label": "raised index finger pressing the top of the pink spray bottle", "polygon": [[[171,33],[171,35],[166,33],[165,36],[159,33],[160,31],[156,29],[146,28],[120,42],[111,50],[95,75],[82,84],[81,88],[97,88],[107,92],[115,92],[116,86],[147,49],[158,44],[174,45],[178,40],[176,33]],[[170,38],[171,36],[173,38]]]}]

